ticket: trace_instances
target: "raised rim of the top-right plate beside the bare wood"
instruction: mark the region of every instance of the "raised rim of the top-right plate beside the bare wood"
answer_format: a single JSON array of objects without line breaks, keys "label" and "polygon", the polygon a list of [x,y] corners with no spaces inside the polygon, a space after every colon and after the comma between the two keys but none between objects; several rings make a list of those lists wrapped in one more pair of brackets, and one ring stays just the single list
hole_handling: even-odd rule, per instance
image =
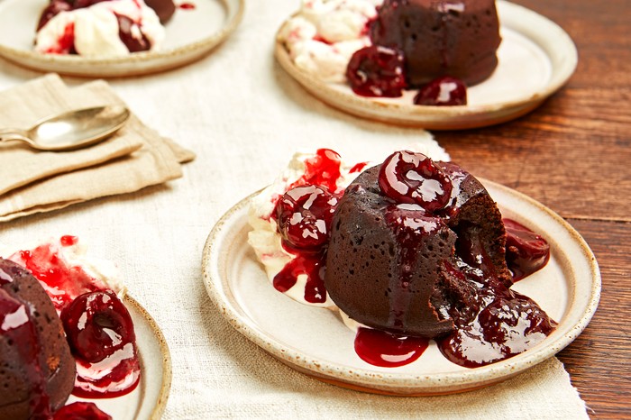
[{"label": "raised rim of the top-right plate beside the bare wood", "polygon": [[[564,72],[545,85],[544,88],[533,92],[530,96],[511,101],[496,102],[486,105],[456,105],[456,106],[431,106],[431,105],[407,105],[393,102],[386,102],[380,98],[368,98],[351,95],[342,92],[334,87],[332,83],[325,82],[313,75],[298,69],[290,59],[288,50],[280,40],[280,31],[288,22],[288,19],[280,24],[276,32],[274,42],[274,56],[291,78],[305,88],[310,94],[317,97],[326,105],[333,106],[348,114],[377,120],[382,123],[396,123],[400,125],[420,126],[430,130],[464,130],[479,128],[497,123],[505,123],[521,115],[527,114],[541,105],[546,98],[552,96],[557,90],[565,85],[572,77],[578,65],[578,50],[570,35],[561,26],[554,23],[542,14],[526,8],[522,5],[510,3],[506,0],[498,0],[498,14],[500,17],[500,27],[508,27],[502,23],[501,14],[503,9],[511,11],[512,14],[522,14],[529,19],[536,19],[539,23],[545,24],[551,31],[556,32],[557,41],[562,41],[567,49],[568,56]],[[519,32],[523,35],[522,32]],[[528,39],[531,39],[528,37]],[[532,40],[531,40],[532,41]],[[482,82],[483,83],[483,82]],[[389,110],[396,114],[384,115]],[[450,118],[452,117],[452,118]],[[486,117],[486,118],[485,118]]]}]

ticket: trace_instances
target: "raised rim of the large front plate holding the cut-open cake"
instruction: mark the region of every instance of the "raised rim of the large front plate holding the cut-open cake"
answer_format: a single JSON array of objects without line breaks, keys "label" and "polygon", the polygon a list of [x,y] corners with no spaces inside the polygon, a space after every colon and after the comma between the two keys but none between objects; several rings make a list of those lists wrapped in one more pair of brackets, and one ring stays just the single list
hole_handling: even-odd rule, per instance
[{"label": "raised rim of the large front plate holding the cut-open cake", "polygon": [[[295,351],[293,348],[279,342],[274,337],[267,335],[264,331],[259,331],[260,329],[258,329],[249,318],[240,315],[234,309],[233,302],[230,302],[224,297],[224,290],[222,288],[223,278],[220,273],[217,272],[219,269],[219,264],[217,263],[219,258],[217,251],[215,251],[221,248],[215,245],[217,245],[216,238],[222,233],[224,226],[229,225],[234,221],[235,217],[240,216],[240,212],[247,210],[247,205],[251,198],[256,196],[258,192],[243,198],[237,204],[233,205],[222,215],[208,234],[202,254],[202,274],[206,292],[215,304],[215,308],[224,319],[251,342],[254,342],[261,347],[261,349],[270,353],[274,358],[287,364],[292,369],[343,388],[385,395],[427,397],[469,391],[509,379],[540,362],[550,359],[581,334],[590,323],[599,305],[601,276],[598,262],[587,242],[585,242],[581,234],[560,215],[557,215],[550,208],[539,203],[534,198],[526,196],[517,190],[484,178],[479,179],[485,187],[490,189],[497,188],[518,200],[526,201],[526,203],[534,205],[538,210],[544,211],[546,215],[551,216],[555,224],[562,227],[564,232],[572,235],[573,242],[580,247],[584,262],[590,267],[590,296],[589,299],[587,299],[586,307],[580,319],[576,323],[568,326],[567,333],[556,337],[552,342],[548,342],[546,345],[537,346],[533,350],[521,353],[515,358],[499,361],[498,363],[493,363],[481,368],[440,373],[440,378],[436,379],[436,374],[375,372],[360,368],[349,369],[343,364],[331,361],[310,361],[304,357],[304,353]],[[215,284],[216,282],[218,282],[219,286]],[[323,369],[323,365],[325,365],[326,369]],[[462,375],[463,373],[464,375]],[[464,379],[462,379],[463,376]],[[374,383],[376,377],[380,379],[378,385]],[[434,390],[430,390],[430,388]]]}]

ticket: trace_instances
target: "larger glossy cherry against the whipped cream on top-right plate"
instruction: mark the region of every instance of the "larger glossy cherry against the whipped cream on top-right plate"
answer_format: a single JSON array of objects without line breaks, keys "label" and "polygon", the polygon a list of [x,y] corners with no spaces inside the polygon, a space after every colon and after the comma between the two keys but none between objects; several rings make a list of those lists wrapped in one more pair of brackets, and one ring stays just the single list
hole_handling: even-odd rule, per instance
[{"label": "larger glossy cherry against the whipped cream on top-right plate", "polygon": [[403,52],[380,45],[362,48],[352,55],[346,78],[357,95],[401,96],[407,86]]}]

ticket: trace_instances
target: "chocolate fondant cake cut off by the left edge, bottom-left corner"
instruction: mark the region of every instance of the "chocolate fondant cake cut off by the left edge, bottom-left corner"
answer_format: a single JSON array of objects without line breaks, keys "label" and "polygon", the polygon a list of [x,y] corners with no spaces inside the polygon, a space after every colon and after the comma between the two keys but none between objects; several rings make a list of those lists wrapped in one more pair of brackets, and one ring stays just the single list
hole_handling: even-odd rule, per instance
[{"label": "chocolate fondant cake cut off by the left edge, bottom-left corner", "polygon": [[0,418],[63,406],[75,361],[55,308],[30,271],[0,259]]}]

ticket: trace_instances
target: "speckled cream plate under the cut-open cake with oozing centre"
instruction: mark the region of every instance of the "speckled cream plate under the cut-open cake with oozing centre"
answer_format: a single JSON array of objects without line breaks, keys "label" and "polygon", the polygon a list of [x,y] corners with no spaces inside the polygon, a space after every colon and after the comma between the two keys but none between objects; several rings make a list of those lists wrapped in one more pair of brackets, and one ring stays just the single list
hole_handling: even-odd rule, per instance
[{"label": "speckled cream plate under the cut-open cake with oozing centre", "polygon": [[587,243],[552,210],[508,187],[482,180],[505,217],[541,233],[551,260],[514,287],[532,297],[558,328],[544,342],[506,361],[465,369],[430,342],[413,363],[380,368],[354,352],[354,333],[334,312],[305,306],[276,291],[247,243],[250,197],[211,231],[203,255],[206,290],[239,332],[288,366],[336,385],[390,395],[427,396],[481,388],[552,357],[590,322],[599,303],[600,273]]}]

